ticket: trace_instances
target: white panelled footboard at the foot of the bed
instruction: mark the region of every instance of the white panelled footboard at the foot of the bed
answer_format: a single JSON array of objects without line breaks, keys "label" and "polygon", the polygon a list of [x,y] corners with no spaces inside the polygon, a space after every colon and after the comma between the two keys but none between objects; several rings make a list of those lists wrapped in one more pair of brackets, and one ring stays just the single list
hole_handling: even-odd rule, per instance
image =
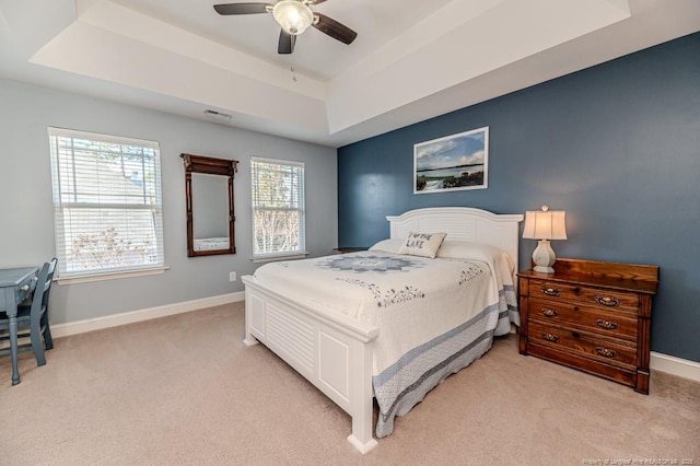
[{"label": "white panelled footboard at the foot of the bed", "polygon": [[360,453],[372,450],[372,351],[380,330],[276,293],[253,276],[242,280],[244,342],[259,340],[313,383],[352,418],[348,441]]}]

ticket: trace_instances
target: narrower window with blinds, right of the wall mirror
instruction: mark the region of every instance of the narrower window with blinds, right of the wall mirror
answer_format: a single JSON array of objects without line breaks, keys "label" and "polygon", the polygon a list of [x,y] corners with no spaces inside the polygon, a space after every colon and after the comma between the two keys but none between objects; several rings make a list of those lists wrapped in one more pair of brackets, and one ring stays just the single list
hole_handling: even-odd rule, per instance
[{"label": "narrower window with blinds, right of the wall mirror", "polygon": [[304,164],[252,158],[253,258],[306,254]]}]

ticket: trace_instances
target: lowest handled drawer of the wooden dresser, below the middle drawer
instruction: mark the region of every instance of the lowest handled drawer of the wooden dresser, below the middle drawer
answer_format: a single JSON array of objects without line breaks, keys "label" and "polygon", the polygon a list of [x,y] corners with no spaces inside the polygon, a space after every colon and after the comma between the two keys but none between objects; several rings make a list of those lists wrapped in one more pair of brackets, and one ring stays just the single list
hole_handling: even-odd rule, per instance
[{"label": "lowest handled drawer of the wooden dresser, below the middle drawer", "polygon": [[565,327],[544,325],[533,321],[529,324],[529,339],[537,345],[585,354],[597,361],[623,368],[637,368],[637,345],[625,341],[614,342],[599,335],[572,330]]}]

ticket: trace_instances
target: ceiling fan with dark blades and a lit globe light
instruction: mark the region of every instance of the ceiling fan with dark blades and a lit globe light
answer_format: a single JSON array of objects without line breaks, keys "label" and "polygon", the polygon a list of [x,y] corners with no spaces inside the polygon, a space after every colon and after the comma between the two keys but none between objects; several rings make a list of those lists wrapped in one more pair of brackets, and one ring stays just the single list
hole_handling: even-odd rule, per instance
[{"label": "ceiling fan with dark blades and a lit globe light", "polygon": [[308,26],[314,26],[322,33],[343,44],[351,44],[358,33],[325,14],[312,11],[310,8],[312,4],[325,1],[279,0],[275,3],[222,3],[215,4],[214,10],[223,15],[272,13],[275,21],[282,27],[277,47],[278,54],[291,54],[294,51],[296,36],[306,31]]}]

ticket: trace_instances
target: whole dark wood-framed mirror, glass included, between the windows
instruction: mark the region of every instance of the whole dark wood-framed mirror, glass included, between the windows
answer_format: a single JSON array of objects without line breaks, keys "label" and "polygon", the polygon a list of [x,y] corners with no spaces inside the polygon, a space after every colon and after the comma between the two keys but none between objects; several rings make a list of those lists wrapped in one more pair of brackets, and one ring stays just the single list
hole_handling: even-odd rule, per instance
[{"label": "whole dark wood-framed mirror, glass included, between the windows", "polygon": [[180,156],[185,164],[187,256],[235,254],[233,179],[238,161]]}]

